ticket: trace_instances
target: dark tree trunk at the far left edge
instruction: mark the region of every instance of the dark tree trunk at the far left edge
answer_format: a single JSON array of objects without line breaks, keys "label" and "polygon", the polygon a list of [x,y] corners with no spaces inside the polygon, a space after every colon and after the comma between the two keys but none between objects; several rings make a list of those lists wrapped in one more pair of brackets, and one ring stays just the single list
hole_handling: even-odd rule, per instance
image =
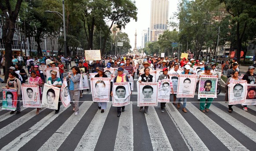
[{"label": "dark tree trunk at the far left edge", "polygon": [[[12,56],[12,49],[11,44],[13,42],[13,35],[15,32],[15,24],[16,19],[18,17],[18,13],[20,11],[22,5],[22,0],[1,0],[0,1],[0,9],[2,11],[2,14],[5,18],[5,25],[2,27],[3,33],[2,33],[2,39],[5,44],[5,58],[6,58],[6,66],[5,70],[11,67],[11,56]],[[5,74],[4,80],[7,81],[8,74]]]}]

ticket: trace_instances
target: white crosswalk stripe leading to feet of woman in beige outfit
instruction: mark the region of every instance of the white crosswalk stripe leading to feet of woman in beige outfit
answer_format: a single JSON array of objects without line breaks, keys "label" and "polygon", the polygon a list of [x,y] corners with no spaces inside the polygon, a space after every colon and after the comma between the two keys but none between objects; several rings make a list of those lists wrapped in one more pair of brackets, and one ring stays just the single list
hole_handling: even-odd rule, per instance
[{"label": "white crosswalk stripe leading to feet of woman in beige outfit", "polygon": [[56,151],[60,147],[60,145],[64,142],[64,140],[69,136],[71,131],[80,121],[80,119],[84,116],[87,110],[91,106],[91,102],[84,102],[79,106],[79,114],[75,116],[71,115],[62,126],[40,147],[39,151]]}]

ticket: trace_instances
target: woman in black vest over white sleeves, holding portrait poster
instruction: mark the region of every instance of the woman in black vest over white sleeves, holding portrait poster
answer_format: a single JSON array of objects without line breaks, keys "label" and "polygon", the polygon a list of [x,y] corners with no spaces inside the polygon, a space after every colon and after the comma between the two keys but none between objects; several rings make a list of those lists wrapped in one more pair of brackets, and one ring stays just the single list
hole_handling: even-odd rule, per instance
[{"label": "woman in black vest over white sleeves, holding portrait poster", "polygon": [[[153,77],[153,75],[149,74],[150,73],[150,68],[149,67],[146,67],[144,69],[144,73],[145,74],[142,74],[142,75],[139,76],[139,79],[138,79],[137,83],[155,81],[155,78]],[[142,111],[142,110],[143,110],[143,106],[140,106],[139,111]],[[144,112],[145,112],[145,114],[148,115],[148,106],[144,106]]]}]

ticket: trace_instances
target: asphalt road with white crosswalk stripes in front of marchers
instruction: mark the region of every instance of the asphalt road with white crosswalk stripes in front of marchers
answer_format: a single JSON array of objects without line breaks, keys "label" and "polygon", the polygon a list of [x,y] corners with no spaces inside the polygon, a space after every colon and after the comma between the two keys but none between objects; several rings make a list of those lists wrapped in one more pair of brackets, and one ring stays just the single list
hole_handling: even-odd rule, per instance
[{"label": "asphalt road with white crosswalk stripes in front of marchers", "polygon": [[[256,106],[234,105],[227,112],[221,93],[210,112],[201,112],[197,95],[188,98],[187,113],[167,103],[165,112],[149,107],[149,115],[139,112],[136,84],[131,103],[121,117],[108,102],[101,113],[91,102],[90,91],[80,98],[80,112],[61,106],[55,114],[43,108],[22,107],[18,115],[0,111],[0,149],[2,151],[255,151]],[[2,98],[0,98],[2,99]],[[112,100],[112,99],[110,99]],[[171,101],[173,97],[171,96]],[[0,103],[2,105],[2,103]]]}]

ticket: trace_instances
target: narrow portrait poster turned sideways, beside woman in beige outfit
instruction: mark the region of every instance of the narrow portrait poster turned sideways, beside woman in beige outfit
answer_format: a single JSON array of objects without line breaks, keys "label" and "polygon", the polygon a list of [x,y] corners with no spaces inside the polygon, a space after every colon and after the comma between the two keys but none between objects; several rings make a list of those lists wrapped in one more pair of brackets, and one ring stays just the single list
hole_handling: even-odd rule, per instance
[{"label": "narrow portrait poster turned sideways, beside woman in beige outfit", "polygon": [[66,108],[70,103],[69,87],[66,78],[63,79],[62,86],[60,88],[60,100],[62,105]]}]

